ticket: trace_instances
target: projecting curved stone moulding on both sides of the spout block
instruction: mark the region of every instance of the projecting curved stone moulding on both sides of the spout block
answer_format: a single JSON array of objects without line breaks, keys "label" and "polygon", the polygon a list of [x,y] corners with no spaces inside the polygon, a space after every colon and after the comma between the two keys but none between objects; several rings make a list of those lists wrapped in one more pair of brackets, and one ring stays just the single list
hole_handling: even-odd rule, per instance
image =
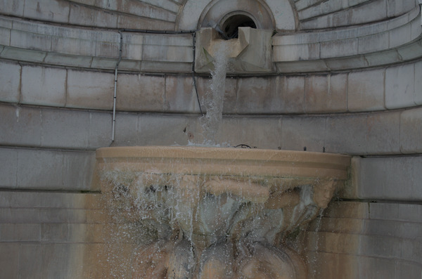
[{"label": "projecting curved stone moulding on both sides of the spout block", "polygon": [[[0,17],[0,58],[113,70],[120,35]],[[329,72],[389,65],[422,56],[420,8],[383,22],[343,30],[276,35],[276,72]],[[191,34],[123,32],[119,70],[184,72],[192,70]],[[165,53],[163,56],[162,53]]]}]

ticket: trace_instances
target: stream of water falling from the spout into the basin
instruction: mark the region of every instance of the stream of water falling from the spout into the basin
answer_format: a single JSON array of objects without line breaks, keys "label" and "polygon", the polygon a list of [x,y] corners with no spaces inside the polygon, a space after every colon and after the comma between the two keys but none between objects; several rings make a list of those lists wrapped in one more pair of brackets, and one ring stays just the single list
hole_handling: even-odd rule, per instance
[{"label": "stream of water falling from the spout into the basin", "polygon": [[215,53],[215,69],[211,72],[211,90],[205,93],[205,108],[207,113],[200,118],[205,145],[217,144],[216,134],[219,131],[219,124],[222,122],[227,63],[229,61],[228,44],[225,44],[225,42],[222,41],[219,44]]}]

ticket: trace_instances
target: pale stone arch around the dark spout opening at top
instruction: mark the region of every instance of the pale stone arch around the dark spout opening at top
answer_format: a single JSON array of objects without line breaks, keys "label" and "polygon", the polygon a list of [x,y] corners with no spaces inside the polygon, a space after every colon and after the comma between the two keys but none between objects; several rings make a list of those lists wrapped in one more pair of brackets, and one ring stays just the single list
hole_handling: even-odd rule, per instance
[{"label": "pale stone arch around the dark spout opening at top", "polygon": [[179,13],[177,30],[199,30],[224,25],[226,20],[253,21],[258,29],[294,31],[297,18],[288,0],[187,0]]}]

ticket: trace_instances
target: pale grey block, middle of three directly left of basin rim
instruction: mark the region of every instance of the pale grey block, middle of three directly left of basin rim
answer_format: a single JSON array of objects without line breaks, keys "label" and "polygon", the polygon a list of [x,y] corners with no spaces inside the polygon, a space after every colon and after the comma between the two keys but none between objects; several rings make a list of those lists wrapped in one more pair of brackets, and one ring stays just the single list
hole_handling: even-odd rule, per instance
[{"label": "pale grey block, middle of three directly left of basin rim", "polygon": [[63,154],[51,150],[18,150],[17,187],[63,189]]}]

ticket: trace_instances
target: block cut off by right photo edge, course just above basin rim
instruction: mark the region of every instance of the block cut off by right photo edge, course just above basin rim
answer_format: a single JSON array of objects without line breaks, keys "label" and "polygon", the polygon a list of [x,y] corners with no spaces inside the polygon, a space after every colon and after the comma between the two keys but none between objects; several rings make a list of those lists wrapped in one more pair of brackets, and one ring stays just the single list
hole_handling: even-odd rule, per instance
[{"label": "block cut off by right photo edge, course just above basin rim", "polygon": [[422,108],[405,110],[400,115],[400,150],[402,153],[422,151]]}]

